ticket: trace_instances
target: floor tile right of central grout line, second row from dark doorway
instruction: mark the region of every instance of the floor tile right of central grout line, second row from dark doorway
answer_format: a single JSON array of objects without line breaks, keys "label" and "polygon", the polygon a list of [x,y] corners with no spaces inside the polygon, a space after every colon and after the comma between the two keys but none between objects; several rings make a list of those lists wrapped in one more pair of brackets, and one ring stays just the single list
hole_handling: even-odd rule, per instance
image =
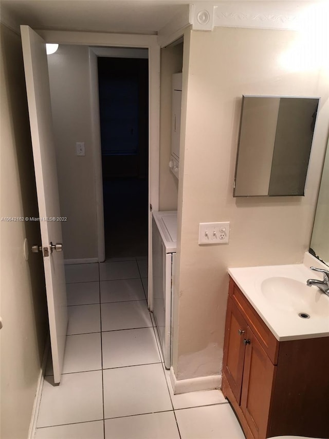
[{"label": "floor tile right of central grout line, second row from dark doorway", "polygon": [[145,300],[143,285],[139,278],[103,280],[100,285],[102,303]]}]

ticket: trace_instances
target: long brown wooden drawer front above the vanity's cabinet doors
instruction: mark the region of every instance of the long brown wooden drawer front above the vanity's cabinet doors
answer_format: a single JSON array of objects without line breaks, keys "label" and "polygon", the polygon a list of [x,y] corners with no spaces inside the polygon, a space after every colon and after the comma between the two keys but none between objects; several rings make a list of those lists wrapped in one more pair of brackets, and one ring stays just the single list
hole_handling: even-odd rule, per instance
[{"label": "long brown wooden drawer front above the vanity's cabinet doors", "polygon": [[257,336],[271,362],[278,364],[279,341],[273,336],[272,332],[248,302],[245,295],[235,285],[232,278],[230,278],[229,295],[239,311],[243,314],[254,335]]}]

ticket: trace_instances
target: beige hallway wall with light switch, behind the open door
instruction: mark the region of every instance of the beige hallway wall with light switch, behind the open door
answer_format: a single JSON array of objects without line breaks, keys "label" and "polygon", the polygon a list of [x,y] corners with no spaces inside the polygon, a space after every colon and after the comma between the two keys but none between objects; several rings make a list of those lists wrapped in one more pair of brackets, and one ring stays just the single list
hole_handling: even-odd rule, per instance
[{"label": "beige hallway wall with light switch, behind the open door", "polygon": [[[65,259],[97,258],[95,170],[87,46],[48,56]],[[76,155],[85,142],[85,156]]]}]

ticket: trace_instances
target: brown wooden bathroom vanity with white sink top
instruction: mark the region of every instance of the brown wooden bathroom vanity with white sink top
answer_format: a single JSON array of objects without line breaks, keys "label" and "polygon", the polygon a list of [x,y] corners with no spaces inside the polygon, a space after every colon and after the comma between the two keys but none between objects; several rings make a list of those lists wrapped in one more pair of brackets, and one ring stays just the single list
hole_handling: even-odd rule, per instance
[{"label": "brown wooden bathroom vanity with white sink top", "polygon": [[222,391],[247,439],[328,438],[329,297],[277,267],[229,270]]}]

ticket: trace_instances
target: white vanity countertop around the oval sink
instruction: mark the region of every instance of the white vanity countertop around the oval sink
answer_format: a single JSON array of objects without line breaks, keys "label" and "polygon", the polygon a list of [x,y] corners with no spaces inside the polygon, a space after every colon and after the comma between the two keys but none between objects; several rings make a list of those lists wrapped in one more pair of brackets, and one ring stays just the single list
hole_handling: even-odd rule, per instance
[{"label": "white vanity countertop around the oval sink", "polygon": [[[228,272],[236,285],[241,289],[248,301],[259,313],[266,325],[272,331],[273,335],[279,341],[284,340],[298,340],[307,338],[318,338],[329,336],[329,297],[321,292],[316,286],[306,287],[306,280],[322,279],[322,274],[309,269],[310,265],[321,267],[316,258],[307,255],[304,259],[304,264],[295,265],[278,265],[265,267],[243,267],[243,268],[229,268]],[[326,266],[323,266],[326,267]],[[322,267],[322,268],[323,268]],[[326,267],[328,269],[328,267]],[[262,283],[269,278],[279,278],[285,282],[287,279],[295,279],[302,284],[304,296],[306,294],[307,303],[303,300],[300,302],[300,310],[285,306],[285,293],[282,295],[282,303],[274,303],[266,298],[262,290]],[[288,281],[288,282],[294,282]],[[264,284],[263,284],[264,285]],[[308,306],[308,289],[309,301]],[[288,296],[288,294],[286,295]],[[295,308],[299,308],[298,296],[295,299]],[[316,312],[308,311],[308,309],[321,309],[321,315]],[[318,308],[319,309],[319,308]],[[309,319],[302,319],[299,317],[299,312],[308,312]]]}]

